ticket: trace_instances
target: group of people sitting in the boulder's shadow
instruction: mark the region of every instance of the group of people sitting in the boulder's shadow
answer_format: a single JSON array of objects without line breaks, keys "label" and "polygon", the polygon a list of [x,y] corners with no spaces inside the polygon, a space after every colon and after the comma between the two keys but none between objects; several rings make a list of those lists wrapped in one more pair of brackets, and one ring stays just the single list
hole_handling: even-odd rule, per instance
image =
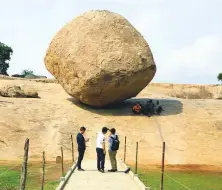
[{"label": "group of people sitting in the boulder's shadow", "polygon": [[132,108],[132,112],[134,114],[144,114],[148,117],[152,115],[160,115],[163,111],[163,107],[160,105],[160,102],[157,101],[156,104],[153,102],[153,100],[149,100],[146,102],[146,104],[143,106],[139,102]]}]

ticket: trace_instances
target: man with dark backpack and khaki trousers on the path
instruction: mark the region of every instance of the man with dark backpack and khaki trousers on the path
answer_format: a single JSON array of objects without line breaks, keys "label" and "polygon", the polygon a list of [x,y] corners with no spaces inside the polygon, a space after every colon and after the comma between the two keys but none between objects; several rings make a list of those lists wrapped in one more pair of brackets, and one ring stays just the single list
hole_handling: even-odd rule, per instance
[{"label": "man with dark backpack and khaki trousers on the path", "polygon": [[110,129],[110,136],[108,138],[109,142],[109,158],[111,162],[112,169],[108,170],[109,172],[116,172],[117,171],[117,161],[116,161],[116,154],[117,150],[119,150],[119,138],[116,135],[116,129]]}]

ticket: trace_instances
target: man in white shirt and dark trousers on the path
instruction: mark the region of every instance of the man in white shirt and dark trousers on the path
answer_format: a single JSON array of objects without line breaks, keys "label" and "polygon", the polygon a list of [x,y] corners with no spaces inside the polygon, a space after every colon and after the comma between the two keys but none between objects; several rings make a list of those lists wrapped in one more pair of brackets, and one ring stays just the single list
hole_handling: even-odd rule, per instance
[{"label": "man in white shirt and dark trousers on the path", "polygon": [[102,131],[98,133],[96,141],[97,169],[102,173],[104,173],[104,165],[105,165],[105,156],[106,156],[105,134],[107,133],[107,131],[108,128],[103,127]]}]

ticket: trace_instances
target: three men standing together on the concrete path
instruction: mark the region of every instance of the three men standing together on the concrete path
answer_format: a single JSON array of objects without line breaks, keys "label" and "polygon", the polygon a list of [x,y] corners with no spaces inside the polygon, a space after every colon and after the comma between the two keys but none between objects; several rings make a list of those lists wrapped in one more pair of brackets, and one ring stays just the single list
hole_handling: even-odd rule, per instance
[{"label": "three men standing together on the concrete path", "polygon": [[[82,166],[82,160],[85,154],[86,150],[86,142],[89,141],[88,138],[84,137],[84,133],[86,131],[85,127],[81,127],[79,133],[77,134],[76,140],[78,144],[78,152],[79,152],[79,157],[77,161],[77,168],[78,171],[85,171]],[[106,134],[107,132],[109,133],[109,137],[106,141]],[[104,173],[105,169],[105,157],[106,157],[106,142],[109,144],[108,148],[108,153],[109,153],[109,158],[111,162],[111,169],[108,170],[108,172],[116,172],[117,171],[117,160],[116,160],[116,154],[119,149],[119,138],[116,135],[116,129],[108,129],[107,127],[103,127],[102,130],[98,133],[97,135],[97,141],[96,141],[96,154],[97,154],[97,169],[99,172]]]}]

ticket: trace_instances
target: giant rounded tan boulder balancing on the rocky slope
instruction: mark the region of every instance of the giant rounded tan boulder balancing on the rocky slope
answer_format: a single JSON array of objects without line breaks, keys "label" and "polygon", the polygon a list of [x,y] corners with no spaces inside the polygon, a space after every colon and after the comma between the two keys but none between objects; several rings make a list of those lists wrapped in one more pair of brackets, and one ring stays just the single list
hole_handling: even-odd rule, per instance
[{"label": "giant rounded tan boulder balancing on the rocky slope", "polygon": [[156,65],[147,42],[122,16],[89,11],[52,40],[45,65],[68,94],[101,107],[136,96]]}]

